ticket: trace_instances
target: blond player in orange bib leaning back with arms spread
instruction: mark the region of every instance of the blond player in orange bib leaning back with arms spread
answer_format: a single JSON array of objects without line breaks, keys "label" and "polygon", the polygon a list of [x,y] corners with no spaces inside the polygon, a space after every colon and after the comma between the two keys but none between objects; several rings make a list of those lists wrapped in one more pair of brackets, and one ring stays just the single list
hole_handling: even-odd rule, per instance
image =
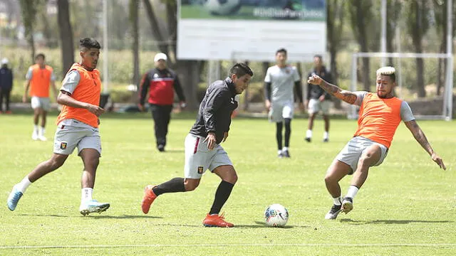
[{"label": "blond player in orange bib leaning back with arms spread", "polygon": [[[348,213],[353,209],[353,198],[368,178],[369,168],[380,165],[386,158],[401,120],[410,129],[416,141],[427,151],[432,161],[435,161],[441,169],[446,169],[442,159],[432,149],[424,132],[415,122],[407,102],[393,96],[393,88],[396,85],[395,68],[383,67],[377,70],[376,93],[341,90],[318,75],[309,77],[308,82],[320,85],[323,90],[344,102],[361,107],[358,129],[333,160],[325,176],[326,188],[333,197],[334,203],[331,210],[326,213],[326,219],[336,219],[341,211]],[[346,196],[342,198],[338,181],[350,174],[353,174],[351,186]]]}]

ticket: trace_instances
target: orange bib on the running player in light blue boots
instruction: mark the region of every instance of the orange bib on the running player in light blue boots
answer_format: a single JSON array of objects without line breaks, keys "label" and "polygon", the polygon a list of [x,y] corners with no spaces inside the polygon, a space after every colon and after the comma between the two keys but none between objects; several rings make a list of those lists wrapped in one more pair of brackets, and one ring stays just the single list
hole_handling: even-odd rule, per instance
[{"label": "orange bib on the running player in light blue boots", "polygon": [[[68,70],[68,73],[72,70],[77,70],[81,78],[71,97],[80,102],[98,106],[100,104],[101,91],[100,72],[96,68],[92,71],[86,70],[79,63],[74,63],[70,70]],[[76,119],[91,127],[98,127],[98,117],[88,110],[78,107],[63,105],[57,117],[57,124],[65,119]]]}]

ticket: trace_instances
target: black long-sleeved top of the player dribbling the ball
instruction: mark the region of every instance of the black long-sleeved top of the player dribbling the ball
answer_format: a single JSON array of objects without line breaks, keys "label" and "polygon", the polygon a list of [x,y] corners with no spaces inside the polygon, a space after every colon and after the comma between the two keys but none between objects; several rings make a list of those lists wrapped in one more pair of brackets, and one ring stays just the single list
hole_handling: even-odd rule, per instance
[{"label": "black long-sleeved top of the player dribbling the ball", "polygon": [[231,114],[237,108],[236,95],[231,78],[209,85],[190,133],[205,138],[209,132],[214,132],[217,144],[222,142],[224,132],[229,131]]}]

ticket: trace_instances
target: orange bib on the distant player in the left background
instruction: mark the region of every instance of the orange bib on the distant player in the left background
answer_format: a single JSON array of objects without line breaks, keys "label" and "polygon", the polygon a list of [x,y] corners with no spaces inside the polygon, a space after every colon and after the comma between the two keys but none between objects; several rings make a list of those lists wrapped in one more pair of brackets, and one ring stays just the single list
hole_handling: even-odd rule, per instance
[{"label": "orange bib on the distant player in the left background", "polygon": [[30,96],[31,97],[49,97],[49,85],[53,69],[45,65],[40,68],[38,64],[32,65],[30,78]]}]

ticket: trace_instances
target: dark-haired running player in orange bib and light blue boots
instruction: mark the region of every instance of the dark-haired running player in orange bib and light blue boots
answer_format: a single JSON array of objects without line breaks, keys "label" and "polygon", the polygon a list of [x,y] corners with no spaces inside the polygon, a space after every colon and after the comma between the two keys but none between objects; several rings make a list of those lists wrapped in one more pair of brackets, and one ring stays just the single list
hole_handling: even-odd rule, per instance
[{"label": "dark-haired running player in orange bib and light blue boots", "polygon": [[63,105],[57,117],[57,130],[54,138],[53,155],[43,161],[24,179],[14,185],[9,194],[7,205],[14,210],[31,183],[58,169],[78,146],[78,156],[84,164],[81,178],[82,215],[100,213],[109,208],[109,203],[98,203],[93,200],[95,173],[101,155],[98,117],[105,110],[98,107],[100,102],[100,73],[96,69],[100,55],[100,43],[93,38],[80,41],[81,62],[74,63],[63,79],[57,102]]}]

